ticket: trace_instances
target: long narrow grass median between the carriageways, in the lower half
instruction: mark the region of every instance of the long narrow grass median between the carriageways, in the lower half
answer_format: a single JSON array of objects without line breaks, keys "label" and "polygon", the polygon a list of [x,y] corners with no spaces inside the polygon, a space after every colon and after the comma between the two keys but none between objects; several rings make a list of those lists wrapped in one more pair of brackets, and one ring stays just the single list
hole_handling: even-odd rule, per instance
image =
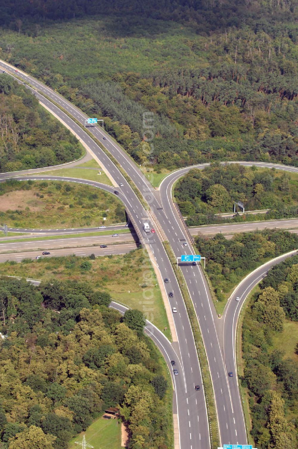
[{"label": "long narrow grass median between the carriageways, in the lower half", "polygon": [[186,283],[184,280],[184,277],[182,275],[180,267],[177,269],[177,260],[176,257],[172,251],[172,248],[170,247],[170,244],[168,242],[164,242],[164,248],[165,251],[168,254],[168,258],[172,263],[174,273],[176,274],[177,280],[179,282],[181,292],[183,295],[183,299],[186,305],[187,313],[190,318],[191,327],[194,334],[194,341],[198,352],[199,362],[201,366],[202,371],[202,377],[203,377],[203,386],[205,390],[206,395],[206,401],[207,401],[207,411],[208,411],[208,418],[209,418],[209,431],[210,431],[210,438],[211,438],[211,446],[212,448],[219,447],[219,433],[218,433],[218,427],[217,427],[217,416],[216,416],[216,407],[214,402],[214,392],[212,387],[212,381],[207,361],[207,355],[205,352],[203,339],[201,335],[201,331],[199,328],[199,323],[197,320],[197,316],[194,310],[194,305],[192,303],[192,300],[190,298],[189,292],[186,287]]}]

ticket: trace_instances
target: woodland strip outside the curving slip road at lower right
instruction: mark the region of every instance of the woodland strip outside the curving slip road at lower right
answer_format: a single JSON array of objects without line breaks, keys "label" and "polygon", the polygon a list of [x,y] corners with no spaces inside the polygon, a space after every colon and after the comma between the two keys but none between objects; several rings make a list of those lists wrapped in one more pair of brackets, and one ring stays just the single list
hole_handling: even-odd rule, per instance
[{"label": "woodland strip outside the curving slip road at lower right", "polygon": [[259,449],[294,449],[298,443],[298,348],[289,351],[294,335],[288,334],[286,340],[283,330],[290,325],[297,336],[298,257],[271,269],[260,289],[250,300],[242,326],[245,367],[241,382],[249,391],[250,433]]}]

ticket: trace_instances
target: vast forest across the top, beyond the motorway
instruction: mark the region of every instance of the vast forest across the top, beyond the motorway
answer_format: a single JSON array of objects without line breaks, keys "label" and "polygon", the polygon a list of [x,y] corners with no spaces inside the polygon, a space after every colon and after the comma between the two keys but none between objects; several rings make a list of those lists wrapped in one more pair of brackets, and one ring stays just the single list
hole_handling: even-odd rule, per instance
[{"label": "vast forest across the top, beyond the motorway", "polygon": [[297,0],[89,3],[3,4],[1,57],[103,116],[156,170],[298,165]]}]

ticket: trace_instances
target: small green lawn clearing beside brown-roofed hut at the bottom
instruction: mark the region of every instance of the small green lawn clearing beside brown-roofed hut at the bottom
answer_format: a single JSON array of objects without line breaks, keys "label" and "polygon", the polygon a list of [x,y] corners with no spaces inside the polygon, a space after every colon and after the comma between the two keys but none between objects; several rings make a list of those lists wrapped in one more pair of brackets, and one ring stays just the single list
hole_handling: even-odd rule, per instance
[{"label": "small green lawn clearing beside brown-roofed hut at the bottom", "polygon": [[75,441],[82,442],[83,435],[86,442],[95,448],[119,449],[121,447],[121,431],[119,430],[121,423],[118,419],[104,419],[102,417],[96,419],[86,431],[81,432],[69,441],[69,449],[77,449]]}]

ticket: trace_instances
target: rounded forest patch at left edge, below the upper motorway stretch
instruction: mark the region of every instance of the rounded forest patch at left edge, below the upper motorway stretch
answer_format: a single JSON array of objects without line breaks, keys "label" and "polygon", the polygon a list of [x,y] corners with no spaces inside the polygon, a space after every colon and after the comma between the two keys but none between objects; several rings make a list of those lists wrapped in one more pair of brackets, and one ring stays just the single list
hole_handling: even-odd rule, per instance
[{"label": "rounded forest patch at left edge, below the upper motorway stretch", "polygon": [[0,74],[0,172],[70,162],[82,150],[25,86]]}]

